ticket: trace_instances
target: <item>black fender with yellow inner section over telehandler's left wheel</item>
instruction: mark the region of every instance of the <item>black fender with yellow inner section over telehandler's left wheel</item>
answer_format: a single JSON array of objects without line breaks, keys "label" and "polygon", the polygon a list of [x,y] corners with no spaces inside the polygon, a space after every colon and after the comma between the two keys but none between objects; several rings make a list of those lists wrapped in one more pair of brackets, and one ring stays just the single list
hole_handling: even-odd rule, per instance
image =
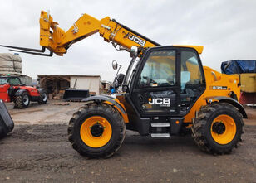
[{"label": "black fender with yellow inner section over telehandler's left wheel", "polygon": [[96,103],[101,103],[101,102],[108,102],[108,104],[114,105],[114,107],[121,113],[121,116],[124,118],[125,123],[128,123],[128,118],[127,118],[127,113],[126,109],[121,106],[121,104],[118,104],[115,100],[115,98],[107,95],[97,95],[97,96],[92,96],[88,97],[86,99],[82,99],[82,102],[90,102],[94,101]]}]

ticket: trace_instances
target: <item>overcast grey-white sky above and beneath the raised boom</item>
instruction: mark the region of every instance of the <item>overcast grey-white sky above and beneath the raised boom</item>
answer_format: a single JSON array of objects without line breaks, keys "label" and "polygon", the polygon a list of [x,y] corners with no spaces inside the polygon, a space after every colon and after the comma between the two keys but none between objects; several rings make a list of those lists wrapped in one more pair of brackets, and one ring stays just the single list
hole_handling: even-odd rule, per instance
[{"label": "overcast grey-white sky above and beneath the raised boom", "polygon": [[[201,60],[215,70],[225,60],[256,59],[256,1],[37,1],[0,0],[0,44],[40,49],[39,17],[50,10],[55,22],[67,31],[82,13],[116,21],[161,45],[204,46]],[[10,52],[0,48],[0,53]],[[126,72],[129,53],[116,51],[96,33],[72,45],[64,56],[20,54],[22,72],[37,75],[101,75],[112,81],[117,60]]]}]

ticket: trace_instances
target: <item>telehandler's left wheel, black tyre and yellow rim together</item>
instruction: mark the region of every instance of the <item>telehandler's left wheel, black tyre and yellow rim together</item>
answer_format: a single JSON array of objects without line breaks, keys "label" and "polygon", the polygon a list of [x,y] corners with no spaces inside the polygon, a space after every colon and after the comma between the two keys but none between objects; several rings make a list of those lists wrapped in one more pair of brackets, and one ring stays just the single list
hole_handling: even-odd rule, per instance
[{"label": "telehandler's left wheel, black tyre and yellow rim together", "polygon": [[107,104],[86,104],[73,114],[68,126],[72,147],[86,157],[111,157],[125,138],[120,113]]}]

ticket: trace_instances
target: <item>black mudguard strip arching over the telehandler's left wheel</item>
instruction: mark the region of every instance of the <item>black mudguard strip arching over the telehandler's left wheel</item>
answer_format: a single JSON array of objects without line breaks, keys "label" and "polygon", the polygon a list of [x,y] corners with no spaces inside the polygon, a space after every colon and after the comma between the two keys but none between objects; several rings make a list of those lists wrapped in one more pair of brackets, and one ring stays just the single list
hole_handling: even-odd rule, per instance
[{"label": "black mudguard strip arching over the telehandler's left wheel", "polygon": [[101,103],[104,101],[110,102],[111,104],[116,105],[116,108],[118,108],[121,113],[123,113],[123,115],[126,115],[126,111],[124,108],[121,107],[120,104],[118,104],[115,100],[115,98],[112,98],[111,96],[107,96],[107,95],[97,95],[97,96],[92,96],[92,97],[88,97],[86,99],[82,99],[82,102],[89,102],[89,101],[94,101],[96,103]]}]

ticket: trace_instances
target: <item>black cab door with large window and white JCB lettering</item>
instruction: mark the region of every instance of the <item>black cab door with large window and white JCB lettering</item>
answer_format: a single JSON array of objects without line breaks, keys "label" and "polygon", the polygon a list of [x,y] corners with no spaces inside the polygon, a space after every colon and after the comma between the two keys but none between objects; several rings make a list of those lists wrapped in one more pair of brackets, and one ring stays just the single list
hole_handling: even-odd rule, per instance
[{"label": "black cab door with large window and white JCB lettering", "polygon": [[131,99],[140,116],[180,114],[180,55],[172,46],[150,48],[140,62]]}]

